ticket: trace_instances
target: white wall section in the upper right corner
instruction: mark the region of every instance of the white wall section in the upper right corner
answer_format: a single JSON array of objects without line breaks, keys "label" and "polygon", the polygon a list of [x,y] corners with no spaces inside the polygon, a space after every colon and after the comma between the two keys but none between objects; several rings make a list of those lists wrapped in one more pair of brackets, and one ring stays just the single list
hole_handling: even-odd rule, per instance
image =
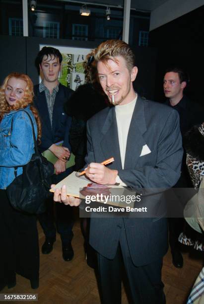
[{"label": "white wall section in the upper right corner", "polygon": [[152,31],[202,5],[204,0],[168,0],[151,11],[149,30]]}]

